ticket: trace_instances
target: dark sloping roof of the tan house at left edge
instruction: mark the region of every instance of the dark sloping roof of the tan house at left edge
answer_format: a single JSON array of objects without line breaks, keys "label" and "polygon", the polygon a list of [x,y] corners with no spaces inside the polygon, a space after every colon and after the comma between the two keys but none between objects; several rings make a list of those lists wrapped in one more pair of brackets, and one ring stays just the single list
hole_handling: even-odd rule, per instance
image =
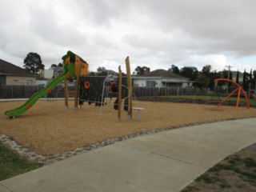
[{"label": "dark sloping roof of the tan house at left edge", "polygon": [[29,71],[24,70],[19,66],[15,66],[14,64],[6,62],[2,59],[0,59],[0,74],[6,76],[34,76],[34,74],[31,74]]}]

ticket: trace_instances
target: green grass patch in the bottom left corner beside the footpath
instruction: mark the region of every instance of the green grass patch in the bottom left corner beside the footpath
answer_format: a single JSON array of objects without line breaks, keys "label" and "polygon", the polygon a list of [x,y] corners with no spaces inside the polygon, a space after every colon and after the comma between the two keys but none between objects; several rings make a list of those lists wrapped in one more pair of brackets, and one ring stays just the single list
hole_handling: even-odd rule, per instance
[{"label": "green grass patch in the bottom left corner beside the footpath", "polygon": [[37,163],[28,162],[0,143],[0,181],[38,169],[38,167]]}]

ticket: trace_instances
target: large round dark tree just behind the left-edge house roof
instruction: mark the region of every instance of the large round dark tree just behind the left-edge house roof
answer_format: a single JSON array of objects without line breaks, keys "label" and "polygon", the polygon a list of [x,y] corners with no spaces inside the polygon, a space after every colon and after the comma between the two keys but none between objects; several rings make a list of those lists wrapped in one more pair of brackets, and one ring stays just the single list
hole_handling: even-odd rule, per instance
[{"label": "large round dark tree just behind the left-edge house roof", "polygon": [[24,59],[24,66],[26,70],[30,71],[32,74],[38,74],[40,69],[44,69],[45,66],[42,64],[42,60],[39,54],[29,53]]}]

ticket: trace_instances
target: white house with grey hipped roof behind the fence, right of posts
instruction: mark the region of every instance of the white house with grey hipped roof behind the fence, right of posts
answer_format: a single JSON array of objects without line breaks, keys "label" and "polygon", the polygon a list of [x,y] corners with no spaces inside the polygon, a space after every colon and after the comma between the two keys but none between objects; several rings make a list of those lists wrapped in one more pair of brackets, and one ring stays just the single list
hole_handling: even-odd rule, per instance
[{"label": "white house with grey hipped roof behind the fence, right of posts", "polygon": [[154,70],[139,76],[133,76],[134,86],[144,87],[187,87],[190,79],[167,70]]}]

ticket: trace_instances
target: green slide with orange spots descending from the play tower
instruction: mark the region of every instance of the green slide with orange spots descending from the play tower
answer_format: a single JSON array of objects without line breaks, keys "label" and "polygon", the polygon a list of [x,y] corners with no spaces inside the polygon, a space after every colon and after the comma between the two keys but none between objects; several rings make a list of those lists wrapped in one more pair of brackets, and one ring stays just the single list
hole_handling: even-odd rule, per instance
[{"label": "green slide with orange spots descending from the play tower", "polygon": [[48,94],[53,90],[56,86],[58,86],[59,82],[62,82],[66,79],[66,76],[72,77],[74,75],[74,63],[65,64],[64,66],[64,74],[60,75],[58,78],[55,78],[52,82],[46,85],[45,88],[39,90],[34,93],[22,106],[18,106],[14,110],[6,110],[5,114],[10,117],[15,117],[23,114],[26,110],[29,110],[34,103],[38,101],[39,98],[42,98],[44,95]]}]

